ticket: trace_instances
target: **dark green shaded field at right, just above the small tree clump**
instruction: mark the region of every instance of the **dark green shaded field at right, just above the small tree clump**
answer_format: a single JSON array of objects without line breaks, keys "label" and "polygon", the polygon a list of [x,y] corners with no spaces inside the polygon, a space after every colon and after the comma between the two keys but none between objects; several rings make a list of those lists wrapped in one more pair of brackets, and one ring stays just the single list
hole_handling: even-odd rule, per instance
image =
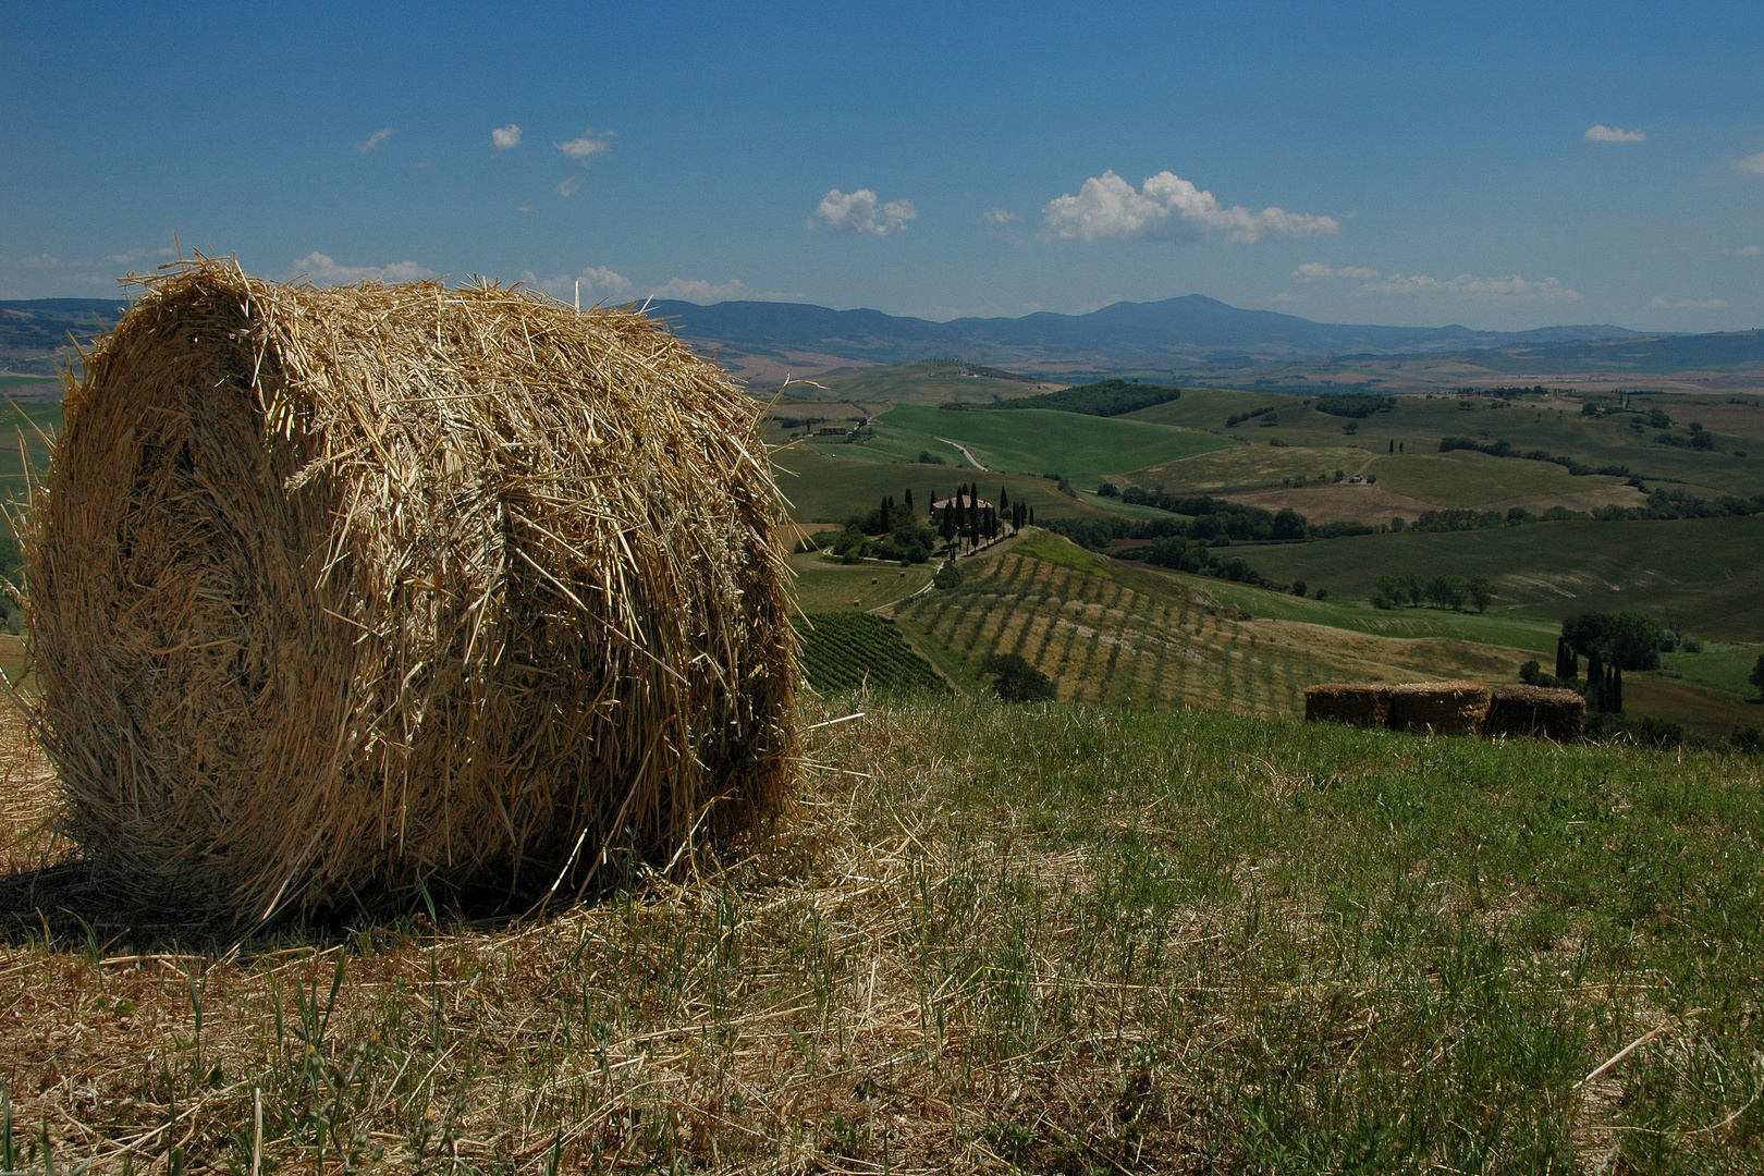
[{"label": "dark green shaded field at right, just above the small tree clump", "polygon": [[1704,640],[1764,640],[1764,517],[1549,522],[1457,534],[1374,534],[1244,547],[1275,580],[1365,599],[1381,575],[1494,580],[1492,612],[1561,619],[1642,608]]}]

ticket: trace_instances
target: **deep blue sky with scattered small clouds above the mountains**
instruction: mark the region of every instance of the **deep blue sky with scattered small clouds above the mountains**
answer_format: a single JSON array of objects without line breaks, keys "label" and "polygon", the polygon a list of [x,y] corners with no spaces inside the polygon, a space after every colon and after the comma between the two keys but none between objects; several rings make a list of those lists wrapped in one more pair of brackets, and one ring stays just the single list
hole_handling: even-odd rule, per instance
[{"label": "deep blue sky with scattered small clouds above the mountains", "polygon": [[1764,326],[1755,5],[0,4],[0,296]]}]

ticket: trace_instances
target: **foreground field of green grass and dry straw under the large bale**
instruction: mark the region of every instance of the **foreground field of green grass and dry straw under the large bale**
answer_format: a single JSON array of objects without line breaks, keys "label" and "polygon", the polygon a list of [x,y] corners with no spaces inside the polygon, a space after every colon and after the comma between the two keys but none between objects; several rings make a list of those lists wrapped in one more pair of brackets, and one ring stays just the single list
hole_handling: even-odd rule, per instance
[{"label": "foreground field of green grass and dry straw under the large bale", "polygon": [[1759,760],[866,709],[695,878],[240,945],[19,843],[14,772],[14,1164],[1764,1171]]}]

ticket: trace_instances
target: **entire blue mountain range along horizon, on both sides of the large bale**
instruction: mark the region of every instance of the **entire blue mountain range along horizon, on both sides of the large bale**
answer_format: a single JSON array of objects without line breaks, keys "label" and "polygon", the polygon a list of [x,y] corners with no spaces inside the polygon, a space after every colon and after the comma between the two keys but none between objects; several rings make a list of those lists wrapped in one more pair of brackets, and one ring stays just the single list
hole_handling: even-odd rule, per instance
[{"label": "entire blue mountain range along horizon, on both sides of the large bale", "polygon": [[[116,298],[0,301],[0,368],[49,374],[74,335],[86,342],[123,310]],[[1764,365],[1764,331],[1646,335],[1611,324],[1475,331],[1468,326],[1360,326],[1244,310],[1203,294],[1117,301],[1090,314],[931,323],[880,310],[829,310],[789,301],[653,301],[649,312],[751,384],[785,376],[954,358],[1048,377],[1120,372],[1261,386],[1291,381],[1289,365],[1379,363],[1443,370],[1455,361],[1489,372],[1734,370]],[[1422,383],[1432,381],[1420,374]],[[1438,383],[1438,381],[1432,381]]]}]

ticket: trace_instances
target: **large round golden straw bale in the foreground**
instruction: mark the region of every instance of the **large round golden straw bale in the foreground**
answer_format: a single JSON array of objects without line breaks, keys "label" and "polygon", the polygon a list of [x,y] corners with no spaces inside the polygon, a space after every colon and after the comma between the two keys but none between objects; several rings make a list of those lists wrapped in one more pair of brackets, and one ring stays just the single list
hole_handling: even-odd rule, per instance
[{"label": "large round golden straw bale in the foreground", "polygon": [[25,522],[99,871],[233,920],[524,904],[778,806],[783,511],[714,367],[494,286],[146,286]]}]

